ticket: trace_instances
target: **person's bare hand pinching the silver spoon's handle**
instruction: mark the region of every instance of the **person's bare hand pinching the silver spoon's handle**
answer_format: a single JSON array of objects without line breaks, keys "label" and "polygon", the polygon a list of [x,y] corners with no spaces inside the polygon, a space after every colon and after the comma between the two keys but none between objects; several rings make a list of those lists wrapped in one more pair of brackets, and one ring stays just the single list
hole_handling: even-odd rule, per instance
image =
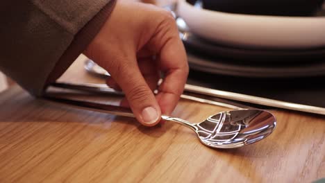
[{"label": "person's bare hand pinching the silver spoon's handle", "polygon": [[[188,62],[172,14],[144,3],[117,1],[106,23],[85,50],[106,69],[110,87],[121,88],[140,123],[156,125],[183,93]],[[160,72],[163,82],[158,87]]]}]

